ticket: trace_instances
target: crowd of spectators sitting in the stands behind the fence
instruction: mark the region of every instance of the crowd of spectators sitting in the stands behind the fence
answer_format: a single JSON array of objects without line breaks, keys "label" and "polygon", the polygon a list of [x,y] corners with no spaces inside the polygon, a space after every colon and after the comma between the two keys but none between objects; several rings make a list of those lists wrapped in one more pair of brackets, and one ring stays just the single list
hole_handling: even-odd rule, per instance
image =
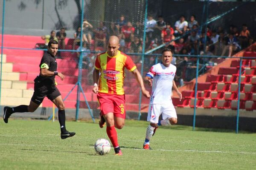
[{"label": "crowd of spectators sitting in the stands behind the fence", "polygon": [[[201,27],[195,15],[191,15],[188,21],[182,15],[173,26],[166,22],[162,16],[158,16],[155,20],[153,16],[149,15],[145,26],[145,51],[162,45],[163,48],[171,48],[173,54],[177,54],[172,61],[172,64],[177,66],[177,82],[180,80],[188,82],[195,78],[197,58],[189,57],[189,55],[230,57],[253,43],[253,38],[250,36],[246,24],[241,26],[241,30],[240,26],[233,25],[230,26],[229,30],[224,30],[222,26],[212,26],[217,28],[215,30],[210,26]],[[131,23],[125,19],[124,15],[121,15],[116,22],[99,22],[96,28],[84,19],[82,28],[78,27],[74,33],[73,50],[78,48],[82,39],[84,51],[105,51],[108,36],[116,35],[120,39],[120,51],[131,53],[131,55],[132,53],[142,53],[143,31],[144,23]],[[45,45],[49,40],[55,39],[59,42],[60,49],[65,49],[65,38],[65,28],[61,28],[56,35],[55,31],[52,31],[50,35],[42,36],[46,42]],[[153,53],[160,54],[163,48],[159,48]],[[80,53],[77,55],[79,56]],[[86,53],[83,56],[85,58],[84,63],[86,63],[84,67],[92,67],[93,59],[88,57]],[[147,56],[145,65],[154,64],[154,60],[154,56]],[[200,68],[206,65],[216,65],[220,61],[220,58],[202,57]],[[140,57],[137,57],[134,62],[141,62]],[[205,71],[206,69],[201,70]]]}]

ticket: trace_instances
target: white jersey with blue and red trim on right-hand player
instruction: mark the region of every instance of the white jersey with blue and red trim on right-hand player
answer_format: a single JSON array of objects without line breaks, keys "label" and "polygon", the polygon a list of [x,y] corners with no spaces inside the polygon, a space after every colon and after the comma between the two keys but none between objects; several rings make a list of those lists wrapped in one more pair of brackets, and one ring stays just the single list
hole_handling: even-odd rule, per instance
[{"label": "white jersey with blue and red trim on right-hand player", "polygon": [[175,73],[176,66],[172,64],[166,67],[162,63],[158,63],[150,68],[146,75],[153,79],[150,104],[172,103],[172,81]]}]

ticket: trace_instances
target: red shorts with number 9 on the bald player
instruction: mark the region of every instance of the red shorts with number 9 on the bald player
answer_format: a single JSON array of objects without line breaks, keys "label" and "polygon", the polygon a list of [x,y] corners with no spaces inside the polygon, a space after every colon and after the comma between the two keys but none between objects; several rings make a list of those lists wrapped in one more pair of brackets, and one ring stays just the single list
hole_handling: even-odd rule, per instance
[{"label": "red shorts with number 9 on the bald player", "polygon": [[114,116],[125,119],[125,95],[98,93],[102,115],[113,112]]}]

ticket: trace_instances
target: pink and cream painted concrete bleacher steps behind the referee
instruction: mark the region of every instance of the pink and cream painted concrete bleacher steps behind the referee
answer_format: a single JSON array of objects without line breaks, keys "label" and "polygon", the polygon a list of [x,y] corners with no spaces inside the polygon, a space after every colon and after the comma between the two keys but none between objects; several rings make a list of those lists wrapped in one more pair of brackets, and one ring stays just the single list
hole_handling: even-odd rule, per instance
[{"label": "pink and cream painted concrete bleacher steps behind the referee", "polygon": [[[0,36],[1,38],[1,36]],[[68,43],[69,42],[69,43]],[[71,49],[72,40],[66,40],[67,49]],[[36,43],[44,43],[38,36],[19,36],[4,35],[4,47],[9,48],[34,48]],[[0,43],[1,45],[1,43]],[[2,72],[2,94],[1,105],[28,105],[33,94],[33,80],[39,74],[39,63],[43,55],[40,50],[22,50],[22,49],[3,49],[3,72]],[[78,58],[76,53],[61,52],[61,59],[56,59],[58,63],[58,71],[65,75],[65,80],[61,81],[56,77],[58,89],[62,97],[66,97],[70,90],[77,82]],[[138,64],[140,69],[141,64]],[[92,93],[93,86],[90,84],[91,77],[88,77],[88,70],[82,69],[82,88],[86,99],[91,108],[98,108],[98,101],[95,94]],[[125,93],[128,111],[138,111],[140,88],[136,79],[130,73],[126,74]],[[77,86],[65,100],[66,108],[76,108]],[[80,108],[87,108],[84,97],[80,94]],[[148,99],[143,97],[142,108],[147,107]],[[52,102],[47,98],[41,105],[42,107],[52,107]]]}]

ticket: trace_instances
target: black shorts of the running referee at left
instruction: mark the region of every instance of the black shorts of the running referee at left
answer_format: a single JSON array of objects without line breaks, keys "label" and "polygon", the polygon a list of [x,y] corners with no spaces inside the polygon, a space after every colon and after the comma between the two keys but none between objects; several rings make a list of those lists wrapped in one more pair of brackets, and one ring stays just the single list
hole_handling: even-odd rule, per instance
[{"label": "black shorts of the running referee at left", "polygon": [[61,96],[61,93],[56,86],[46,85],[41,82],[35,82],[34,94],[31,100],[32,102],[40,105],[43,102],[44,97],[47,97],[49,100],[52,101],[58,96]]}]

